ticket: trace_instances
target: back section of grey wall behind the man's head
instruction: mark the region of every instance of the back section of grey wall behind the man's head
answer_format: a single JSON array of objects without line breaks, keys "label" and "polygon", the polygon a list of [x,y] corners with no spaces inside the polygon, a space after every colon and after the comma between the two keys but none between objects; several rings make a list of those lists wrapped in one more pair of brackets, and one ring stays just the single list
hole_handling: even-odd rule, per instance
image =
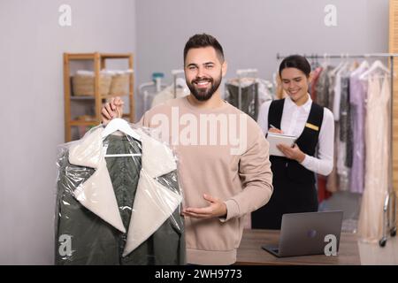
[{"label": "back section of grey wall behind the man's head", "polygon": [[[337,27],[325,27],[324,8],[337,8]],[[145,0],[138,1],[137,82],[182,67],[189,36],[209,33],[224,47],[228,77],[257,68],[271,80],[276,54],[385,52],[388,0]],[[140,113],[137,113],[139,115]]]}]

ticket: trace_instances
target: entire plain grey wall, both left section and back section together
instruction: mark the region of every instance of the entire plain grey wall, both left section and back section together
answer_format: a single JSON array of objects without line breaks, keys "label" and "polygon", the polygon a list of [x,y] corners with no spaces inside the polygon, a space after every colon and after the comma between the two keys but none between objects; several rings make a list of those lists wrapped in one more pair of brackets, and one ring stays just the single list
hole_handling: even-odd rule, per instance
[{"label": "entire plain grey wall, both left section and back section together", "polygon": [[[72,27],[58,26],[70,4]],[[325,27],[325,4],[338,26]],[[136,79],[182,66],[188,37],[218,37],[237,68],[271,79],[277,52],[387,51],[387,0],[0,0],[0,264],[51,264],[63,52],[135,52]],[[138,113],[140,116],[140,113]]]}]

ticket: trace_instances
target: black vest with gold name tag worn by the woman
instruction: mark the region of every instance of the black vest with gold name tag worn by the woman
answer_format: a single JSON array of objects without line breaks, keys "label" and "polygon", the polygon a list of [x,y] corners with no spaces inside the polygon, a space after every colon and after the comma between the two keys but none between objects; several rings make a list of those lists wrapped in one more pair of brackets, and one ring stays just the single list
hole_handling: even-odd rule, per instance
[{"label": "black vest with gold name tag worn by the woman", "polygon": [[[268,112],[268,128],[273,125],[280,129],[284,103],[285,99],[272,101]],[[324,108],[317,103],[312,103],[306,126],[304,126],[302,134],[295,142],[303,153],[311,157],[315,155],[323,119]],[[270,161],[274,180],[290,180],[302,184],[315,183],[314,172],[304,168],[302,164],[299,164],[295,160],[287,157],[271,156]]]}]

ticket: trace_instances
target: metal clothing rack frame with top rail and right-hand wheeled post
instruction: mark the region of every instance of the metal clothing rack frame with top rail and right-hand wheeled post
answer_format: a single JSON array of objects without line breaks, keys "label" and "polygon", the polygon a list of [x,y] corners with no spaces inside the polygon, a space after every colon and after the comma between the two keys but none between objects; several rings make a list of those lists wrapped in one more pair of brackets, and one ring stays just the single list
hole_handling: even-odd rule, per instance
[{"label": "metal clothing rack frame with top rail and right-hand wheeled post", "polygon": [[[396,215],[396,195],[394,192],[394,184],[393,184],[393,119],[394,119],[394,57],[398,57],[398,53],[365,53],[365,54],[327,54],[318,55],[318,54],[303,54],[303,57],[310,59],[327,59],[327,58],[376,58],[376,57],[387,57],[389,59],[390,64],[390,157],[389,157],[389,181],[388,181],[388,193],[383,206],[383,236],[379,241],[379,246],[386,246],[387,242],[387,229],[390,229],[390,235],[394,237],[396,235],[396,224],[395,224],[395,215]],[[279,55],[277,53],[277,59],[283,59],[285,56]],[[394,205],[392,204],[394,203]],[[393,220],[390,221],[390,216],[392,214]]]}]

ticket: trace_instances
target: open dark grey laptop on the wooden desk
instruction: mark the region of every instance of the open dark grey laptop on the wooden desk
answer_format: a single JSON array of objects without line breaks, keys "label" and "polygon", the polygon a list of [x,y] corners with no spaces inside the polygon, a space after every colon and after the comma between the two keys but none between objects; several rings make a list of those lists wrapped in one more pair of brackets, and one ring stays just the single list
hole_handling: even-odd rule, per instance
[{"label": "open dark grey laptop on the wooden desk", "polygon": [[324,255],[325,246],[333,235],[339,251],[342,218],[340,210],[284,214],[279,245],[262,248],[278,257]]}]

